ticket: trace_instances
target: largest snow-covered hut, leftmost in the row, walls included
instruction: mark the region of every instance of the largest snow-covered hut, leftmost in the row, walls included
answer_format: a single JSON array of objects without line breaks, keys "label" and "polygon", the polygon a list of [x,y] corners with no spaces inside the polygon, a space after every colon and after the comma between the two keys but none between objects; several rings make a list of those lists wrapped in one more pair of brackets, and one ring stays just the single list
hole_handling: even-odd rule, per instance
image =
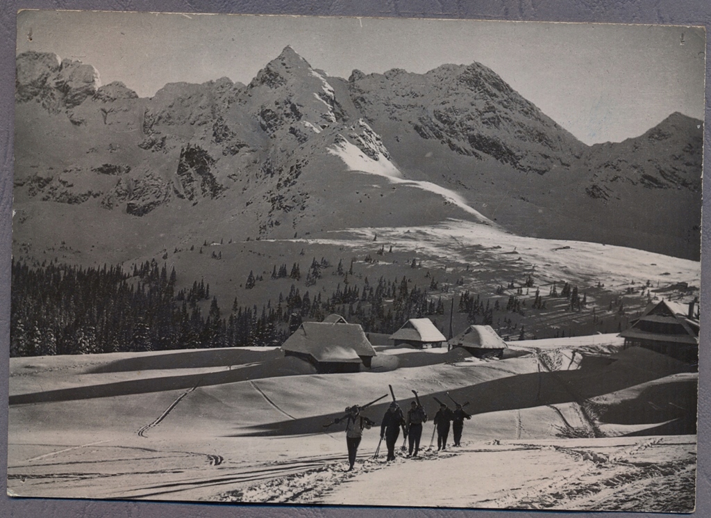
[{"label": "largest snow-covered hut, leftmost in the row, walls included", "polygon": [[284,356],[313,364],[321,374],[358,372],[370,367],[375,349],[359,324],[303,322],[282,344]]}]

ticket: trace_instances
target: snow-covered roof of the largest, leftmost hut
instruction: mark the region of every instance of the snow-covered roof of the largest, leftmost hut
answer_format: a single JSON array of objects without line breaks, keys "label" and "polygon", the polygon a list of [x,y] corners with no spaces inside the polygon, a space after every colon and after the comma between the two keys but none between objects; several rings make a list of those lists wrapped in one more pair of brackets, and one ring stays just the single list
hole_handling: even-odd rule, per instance
[{"label": "snow-covered roof of the largest, leftmost hut", "polygon": [[360,356],[375,356],[359,324],[332,322],[303,322],[282,351],[310,354],[318,361],[360,362]]}]

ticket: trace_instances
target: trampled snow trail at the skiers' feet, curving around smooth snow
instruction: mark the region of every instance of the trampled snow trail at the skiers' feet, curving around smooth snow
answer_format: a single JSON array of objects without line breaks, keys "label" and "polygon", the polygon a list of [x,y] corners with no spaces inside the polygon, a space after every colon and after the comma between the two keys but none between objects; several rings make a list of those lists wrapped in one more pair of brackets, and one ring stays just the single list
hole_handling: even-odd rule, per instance
[{"label": "trampled snow trail at the skiers' feet, curving around smooth snow", "polygon": [[[673,460],[662,463],[661,466],[650,462],[635,462],[634,455],[648,448],[654,448],[660,443],[660,438],[643,440],[629,448],[620,448],[611,455],[596,453],[592,447],[565,447],[560,445],[537,445],[520,443],[512,448],[501,450],[494,442],[495,450],[481,446],[446,453],[429,453],[421,450],[418,458],[404,458],[396,449],[397,460],[392,466],[402,465],[402,462],[427,462],[434,459],[453,458],[459,455],[474,455],[477,452],[508,451],[508,450],[540,450],[541,452],[557,452],[567,455],[574,461],[570,470],[556,473],[552,477],[542,477],[538,481],[518,490],[506,490],[505,494],[493,499],[471,502],[471,507],[508,508],[508,509],[587,509],[579,507],[579,499],[605,497],[606,492],[626,490],[627,487],[642,483],[648,484],[664,475],[678,475],[683,478],[685,472],[693,467],[690,459]],[[387,469],[391,464],[378,462],[370,457],[358,458],[356,468],[352,472],[345,471],[346,462],[339,456],[340,462],[328,462],[316,465],[311,469],[299,472],[284,473],[284,476],[272,477],[270,480],[249,485],[239,490],[231,490],[218,495],[221,502],[263,502],[286,504],[319,504],[324,503],[324,497],[336,488],[349,482],[354,477],[363,480],[363,476],[376,470]],[[304,467],[306,467],[304,465]],[[418,468],[422,469],[422,468]],[[427,469],[427,468],[424,468]],[[688,477],[687,477],[688,478]],[[690,479],[691,480],[691,479]],[[357,480],[353,480],[357,482]],[[504,491],[502,491],[504,492]],[[624,497],[613,499],[612,505],[624,504]],[[607,509],[607,508],[605,508]]]}]

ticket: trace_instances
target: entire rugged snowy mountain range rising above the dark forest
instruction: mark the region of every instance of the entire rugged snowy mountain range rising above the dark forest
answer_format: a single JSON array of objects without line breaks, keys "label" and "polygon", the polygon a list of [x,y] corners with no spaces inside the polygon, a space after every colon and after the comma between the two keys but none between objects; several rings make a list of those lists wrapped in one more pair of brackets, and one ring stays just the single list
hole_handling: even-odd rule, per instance
[{"label": "entire rugged snowy mountain range rising above the dark forest", "polygon": [[[228,211],[247,236],[292,237],[486,221],[469,203],[520,233],[640,248],[681,226],[690,245],[657,251],[695,256],[700,122],[675,114],[636,139],[587,147],[478,63],[343,80],[287,47],[248,85],[171,83],[143,99],[101,85],[91,65],[23,53],[16,113],[16,206],[156,218],[156,232],[169,215],[193,224],[188,209],[215,221]],[[579,218],[551,220],[560,212]]]}]

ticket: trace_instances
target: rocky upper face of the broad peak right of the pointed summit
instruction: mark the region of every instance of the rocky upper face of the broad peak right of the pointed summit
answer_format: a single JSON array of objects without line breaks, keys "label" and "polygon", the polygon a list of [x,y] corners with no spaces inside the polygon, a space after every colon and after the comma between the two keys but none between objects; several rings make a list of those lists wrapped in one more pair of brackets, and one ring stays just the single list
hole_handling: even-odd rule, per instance
[{"label": "rocky upper face of the broad peak right of the pointed summit", "polygon": [[584,145],[479,63],[442,65],[426,74],[354,71],[353,102],[376,131],[392,121],[457,154],[485,156],[523,172],[570,166]]}]

